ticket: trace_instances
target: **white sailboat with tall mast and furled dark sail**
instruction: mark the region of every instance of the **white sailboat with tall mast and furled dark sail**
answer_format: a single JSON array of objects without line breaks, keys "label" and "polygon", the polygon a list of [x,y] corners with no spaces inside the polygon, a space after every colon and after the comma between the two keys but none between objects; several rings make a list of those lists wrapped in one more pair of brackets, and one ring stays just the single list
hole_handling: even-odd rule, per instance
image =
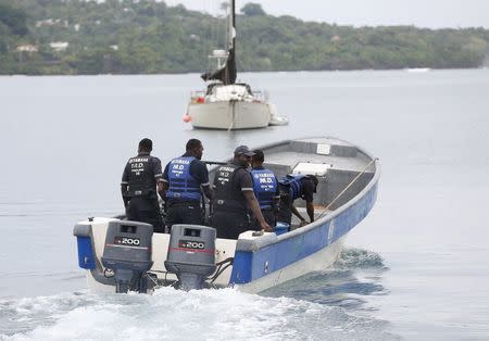
[{"label": "white sailboat with tall mast and furled dark sail", "polygon": [[202,75],[208,88],[190,94],[184,121],[193,128],[227,130],[286,125],[288,118],[277,113],[267,96],[252,91],[248,84],[236,83],[236,3],[229,2],[227,50],[214,50],[209,56],[214,70]]}]

